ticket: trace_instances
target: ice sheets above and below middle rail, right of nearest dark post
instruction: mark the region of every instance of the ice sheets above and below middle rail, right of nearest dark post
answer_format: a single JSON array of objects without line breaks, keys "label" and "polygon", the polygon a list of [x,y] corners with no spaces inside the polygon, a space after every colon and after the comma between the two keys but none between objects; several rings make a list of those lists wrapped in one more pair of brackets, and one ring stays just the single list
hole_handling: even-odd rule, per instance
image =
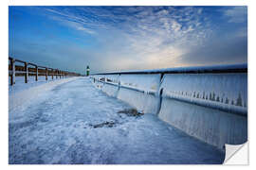
[{"label": "ice sheets above and below middle rail, right of nearest dark post", "polygon": [[168,74],[159,118],[222,148],[247,141],[247,74]]}]

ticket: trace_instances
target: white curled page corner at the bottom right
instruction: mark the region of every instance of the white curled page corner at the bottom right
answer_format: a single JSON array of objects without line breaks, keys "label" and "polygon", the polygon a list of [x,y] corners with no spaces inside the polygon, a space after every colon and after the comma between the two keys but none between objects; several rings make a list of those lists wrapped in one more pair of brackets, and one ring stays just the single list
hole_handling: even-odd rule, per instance
[{"label": "white curled page corner at the bottom right", "polygon": [[248,164],[247,143],[245,144],[225,144],[225,161],[223,164]]}]

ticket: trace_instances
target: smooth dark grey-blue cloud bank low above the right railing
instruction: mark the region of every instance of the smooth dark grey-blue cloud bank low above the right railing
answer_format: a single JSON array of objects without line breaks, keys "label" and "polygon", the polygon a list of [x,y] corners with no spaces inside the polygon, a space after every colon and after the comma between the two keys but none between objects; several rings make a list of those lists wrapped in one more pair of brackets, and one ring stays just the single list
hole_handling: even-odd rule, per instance
[{"label": "smooth dark grey-blue cloud bank low above the right railing", "polygon": [[216,37],[204,46],[190,49],[179,60],[185,65],[247,63],[247,37]]}]

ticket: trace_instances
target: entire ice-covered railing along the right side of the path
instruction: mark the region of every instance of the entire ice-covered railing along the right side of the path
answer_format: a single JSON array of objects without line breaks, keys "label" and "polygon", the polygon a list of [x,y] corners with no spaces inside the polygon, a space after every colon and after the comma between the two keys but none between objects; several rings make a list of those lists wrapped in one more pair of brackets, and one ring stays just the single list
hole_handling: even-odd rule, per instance
[{"label": "entire ice-covered railing along the right side of the path", "polygon": [[90,76],[103,92],[206,143],[247,141],[247,64]]}]

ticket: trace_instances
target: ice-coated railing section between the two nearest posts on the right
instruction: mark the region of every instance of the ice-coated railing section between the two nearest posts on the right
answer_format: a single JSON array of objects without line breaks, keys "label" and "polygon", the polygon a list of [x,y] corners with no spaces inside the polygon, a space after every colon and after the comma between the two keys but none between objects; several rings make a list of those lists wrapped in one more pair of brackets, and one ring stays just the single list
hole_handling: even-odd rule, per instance
[{"label": "ice-coated railing section between the two nearest posts on the right", "polygon": [[118,98],[144,113],[156,113],[160,75],[121,75]]}]

